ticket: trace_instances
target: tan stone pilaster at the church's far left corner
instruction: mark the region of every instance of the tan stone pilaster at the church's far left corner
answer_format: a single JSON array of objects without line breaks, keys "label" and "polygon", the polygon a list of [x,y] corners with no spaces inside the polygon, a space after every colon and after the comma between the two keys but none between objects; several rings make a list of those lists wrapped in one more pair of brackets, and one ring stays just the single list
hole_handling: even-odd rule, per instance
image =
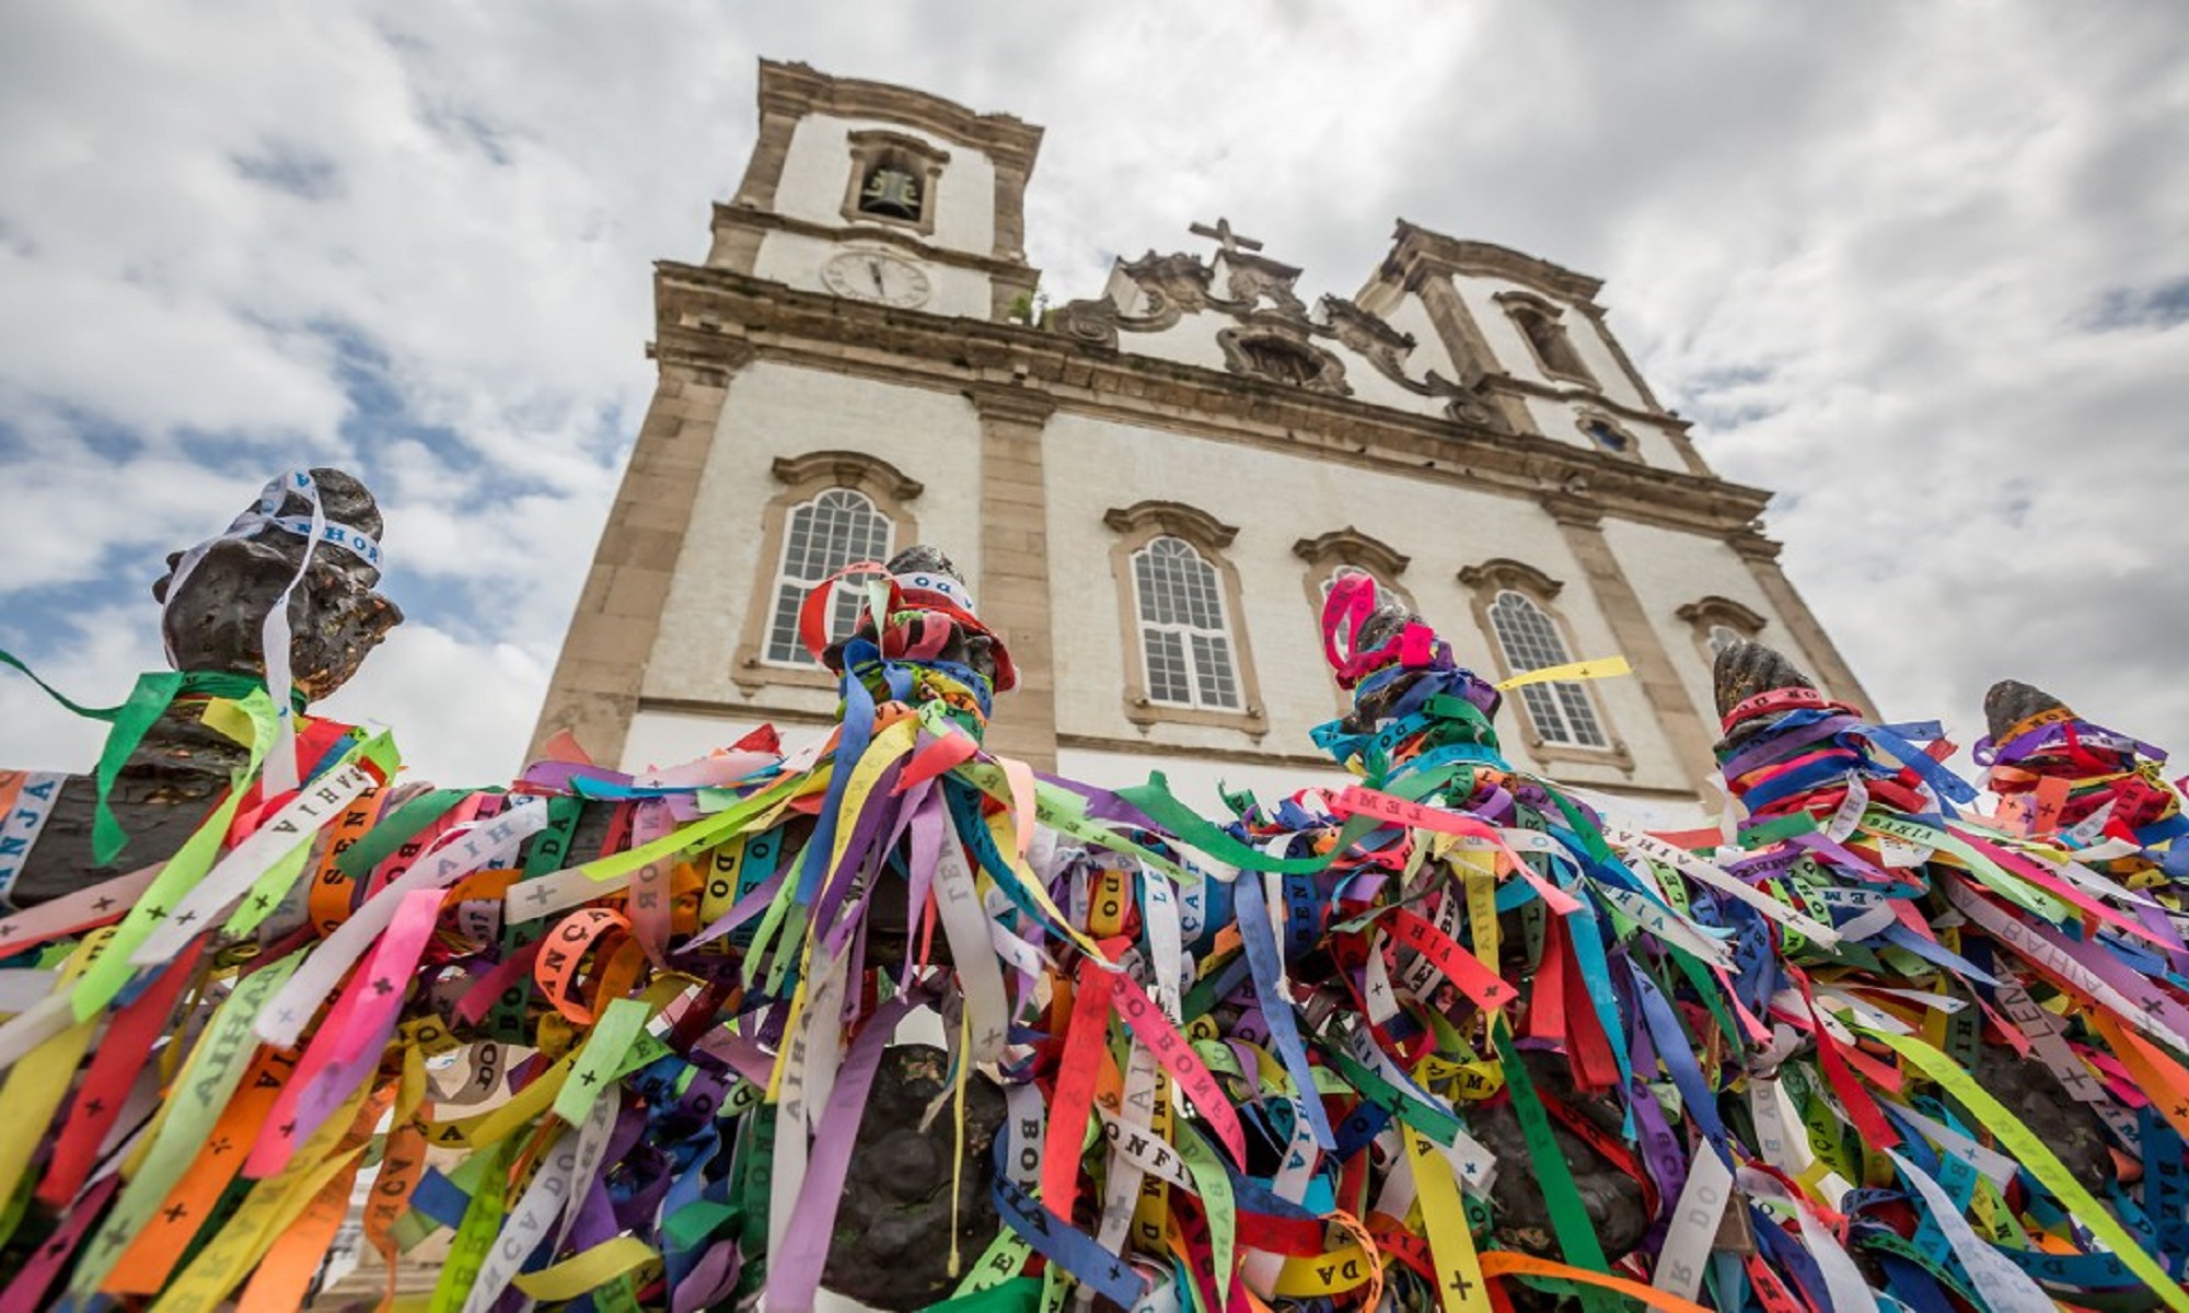
[{"label": "tan stone pilaster at the church's far left corner", "polygon": [[622,762],[646,661],[661,635],[670,576],[692,523],[698,477],[722,420],[729,376],[746,359],[749,348],[733,348],[720,368],[663,361],[547,683],[528,757],[536,757],[556,731],[569,729],[593,759],[606,766]]}]

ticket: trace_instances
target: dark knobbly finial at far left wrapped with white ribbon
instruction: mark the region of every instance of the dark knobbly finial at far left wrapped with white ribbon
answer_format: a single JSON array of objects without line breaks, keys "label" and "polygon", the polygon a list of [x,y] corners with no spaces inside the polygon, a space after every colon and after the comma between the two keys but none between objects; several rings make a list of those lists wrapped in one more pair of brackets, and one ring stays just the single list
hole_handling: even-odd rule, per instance
[{"label": "dark knobbly finial at far left wrapped with white ribbon", "polygon": [[[311,481],[328,525],[379,541],[381,508],[355,475],[315,468]],[[151,595],[164,604],[160,632],[175,670],[265,674],[265,615],[296,578],[306,547],[304,534],[278,521],[298,519],[311,519],[311,503],[289,490],[271,514],[252,508],[219,538],[169,554],[169,573],[153,582]],[[387,630],[403,624],[403,611],[374,591],[379,580],[381,571],[357,554],[328,543],[313,547],[311,567],[289,595],[289,672],[306,698],[326,698],[348,683]]]}]

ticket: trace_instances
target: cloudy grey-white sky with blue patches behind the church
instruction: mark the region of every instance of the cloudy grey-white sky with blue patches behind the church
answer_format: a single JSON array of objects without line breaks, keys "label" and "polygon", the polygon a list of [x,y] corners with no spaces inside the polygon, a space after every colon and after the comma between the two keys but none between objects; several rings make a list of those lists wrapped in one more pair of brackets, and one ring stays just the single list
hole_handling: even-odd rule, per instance
[{"label": "cloudy grey-white sky with blue patches behind the church", "polygon": [[[1887,713],[2012,674],[2189,751],[2185,50],[2161,0],[9,4],[0,646],[118,700],[162,556],[348,466],[412,619],[328,709],[503,777],[768,55],[1044,125],[1057,300],[1217,214],[1313,293],[1397,217],[1602,276]],[[0,681],[7,764],[96,742]]]}]

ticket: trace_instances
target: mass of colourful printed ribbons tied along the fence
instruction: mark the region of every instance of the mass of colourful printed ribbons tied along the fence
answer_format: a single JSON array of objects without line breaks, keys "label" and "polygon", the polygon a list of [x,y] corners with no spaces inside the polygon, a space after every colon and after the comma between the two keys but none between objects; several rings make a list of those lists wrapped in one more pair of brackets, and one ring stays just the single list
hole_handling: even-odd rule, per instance
[{"label": "mass of colourful printed ribbons tied along the fence", "polygon": [[293,1309],[361,1182],[422,1306],[810,1309],[897,1243],[845,1193],[919,1024],[897,1306],[2189,1309],[2139,744],[2012,727],[2053,805],[1981,818],[1935,729],[1740,648],[1727,821],[1648,834],[1346,576],[1353,783],[1204,818],[983,748],[1016,674],[946,562],[803,621],[834,733],[635,777],[405,788],[306,718],[274,790],[271,698],[206,698],[252,757],[190,843],[0,919],[0,1313]]}]

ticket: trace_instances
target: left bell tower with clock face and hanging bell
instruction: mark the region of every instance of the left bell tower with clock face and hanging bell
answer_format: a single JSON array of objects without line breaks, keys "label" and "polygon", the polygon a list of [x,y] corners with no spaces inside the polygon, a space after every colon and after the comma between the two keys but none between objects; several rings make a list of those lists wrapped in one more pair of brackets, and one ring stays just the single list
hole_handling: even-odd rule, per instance
[{"label": "left bell tower with clock face and hanging bell", "polygon": [[1042,129],[803,63],[760,63],[760,140],[707,265],[904,311],[1009,319],[1033,295]]}]

